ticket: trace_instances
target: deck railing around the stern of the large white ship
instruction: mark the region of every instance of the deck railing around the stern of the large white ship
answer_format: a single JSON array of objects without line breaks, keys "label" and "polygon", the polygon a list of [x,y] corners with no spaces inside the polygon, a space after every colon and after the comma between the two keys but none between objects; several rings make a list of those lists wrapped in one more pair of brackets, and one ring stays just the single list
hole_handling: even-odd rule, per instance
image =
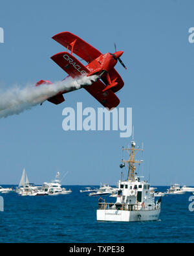
[{"label": "deck railing around the stern of the large white ship", "polygon": [[160,209],[159,204],[114,204],[114,203],[98,203],[100,210],[121,210],[121,211],[147,211]]}]

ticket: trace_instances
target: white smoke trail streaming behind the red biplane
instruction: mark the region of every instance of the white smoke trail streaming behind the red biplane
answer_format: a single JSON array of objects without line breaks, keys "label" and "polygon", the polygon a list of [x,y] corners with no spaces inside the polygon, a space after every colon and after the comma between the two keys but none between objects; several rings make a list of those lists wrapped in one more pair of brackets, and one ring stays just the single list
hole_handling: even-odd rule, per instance
[{"label": "white smoke trail streaming behind the red biplane", "polygon": [[40,86],[32,84],[23,88],[13,87],[7,91],[0,91],[0,118],[18,115],[56,95],[59,91],[80,89],[83,85],[91,85],[97,79],[98,76],[96,75],[79,76],[74,79],[68,77],[53,84],[41,84]]}]

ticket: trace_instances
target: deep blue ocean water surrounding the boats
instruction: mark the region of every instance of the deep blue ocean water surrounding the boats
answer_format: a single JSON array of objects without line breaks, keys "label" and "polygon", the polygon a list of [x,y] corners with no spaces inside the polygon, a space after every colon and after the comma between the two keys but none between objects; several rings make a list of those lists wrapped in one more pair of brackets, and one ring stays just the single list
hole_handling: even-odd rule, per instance
[{"label": "deep blue ocean water surrounding the boats", "polygon": [[[80,193],[83,186],[65,187],[72,193],[37,197],[1,194],[5,211],[0,212],[0,242],[194,242],[189,192],[164,196],[156,222],[97,222],[98,198]],[[158,187],[158,191],[166,189]]]}]

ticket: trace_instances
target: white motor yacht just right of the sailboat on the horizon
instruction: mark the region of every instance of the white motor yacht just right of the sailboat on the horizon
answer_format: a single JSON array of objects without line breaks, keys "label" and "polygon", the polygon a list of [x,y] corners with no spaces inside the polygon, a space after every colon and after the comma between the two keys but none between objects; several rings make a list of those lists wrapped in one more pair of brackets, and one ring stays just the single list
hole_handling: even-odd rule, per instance
[{"label": "white motor yacht just right of the sailboat on the horizon", "polygon": [[59,194],[70,194],[72,191],[69,189],[61,188],[61,181],[59,180],[59,172],[56,174],[56,179],[51,182],[43,183],[42,190],[47,192],[49,196],[58,196]]}]

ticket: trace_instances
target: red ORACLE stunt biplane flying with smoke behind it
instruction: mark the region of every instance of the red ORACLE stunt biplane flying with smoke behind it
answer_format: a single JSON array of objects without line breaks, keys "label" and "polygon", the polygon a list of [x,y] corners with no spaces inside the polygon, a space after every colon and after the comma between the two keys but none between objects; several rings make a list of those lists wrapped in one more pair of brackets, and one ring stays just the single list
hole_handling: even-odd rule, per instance
[{"label": "red ORACLE stunt biplane flying with smoke behind it", "polygon": [[[124,86],[124,81],[114,69],[114,65],[119,61],[125,67],[120,59],[123,51],[116,51],[116,45],[114,44],[116,52],[113,54],[109,52],[102,54],[100,51],[89,45],[89,43],[70,32],[61,32],[56,34],[56,36],[53,36],[52,39],[66,47],[67,51],[59,52],[52,56],[51,59],[69,74],[69,76],[72,76],[72,78],[76,78],[80,75],[98,75],[99,79],[96,82],[93,82],[91,86],[82,87],[91,93],[91,95],[105,108],[111,109],[118,106],[120,100],[114,93]],[[81,62],[72,55],[73,53],[85,60],[88,64],[81,64]],[[48,80],[40,80],[36,83],[36,86],[39,86],[40,84],[52,83]],[[73,90],[74,89],[60,91],[57,95],[48,99],[48,101],[54,104],[59,104],[65,100],[63,98],[63,93],[68,93]]]}]

